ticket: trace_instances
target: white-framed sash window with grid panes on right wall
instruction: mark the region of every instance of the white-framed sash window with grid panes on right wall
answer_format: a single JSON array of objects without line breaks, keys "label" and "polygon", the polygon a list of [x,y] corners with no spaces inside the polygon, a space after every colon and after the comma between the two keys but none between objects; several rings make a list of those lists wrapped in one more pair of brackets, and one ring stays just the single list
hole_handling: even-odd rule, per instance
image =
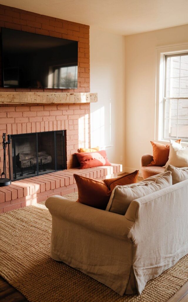
[{"label": "white-framed sash window with grid panes on right wall", "polygon": [[165,55],[163,139],[188,140],[188,53]]}]

